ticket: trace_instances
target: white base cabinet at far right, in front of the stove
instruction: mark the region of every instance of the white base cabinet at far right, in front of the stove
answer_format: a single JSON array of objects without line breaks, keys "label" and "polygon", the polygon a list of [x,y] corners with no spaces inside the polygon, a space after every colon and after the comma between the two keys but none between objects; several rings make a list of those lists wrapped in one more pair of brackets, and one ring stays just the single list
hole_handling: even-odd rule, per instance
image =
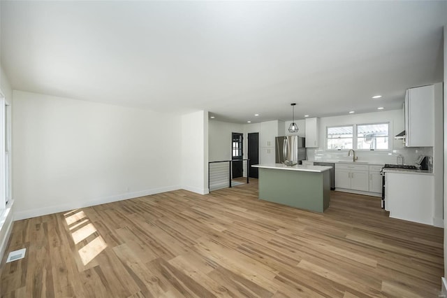
[{"label": "white base cabinet at far right, in front of the stove", "polygon": [[386,172],[385,178],[385,209],[390,218],[433,225],[433,175]]}]

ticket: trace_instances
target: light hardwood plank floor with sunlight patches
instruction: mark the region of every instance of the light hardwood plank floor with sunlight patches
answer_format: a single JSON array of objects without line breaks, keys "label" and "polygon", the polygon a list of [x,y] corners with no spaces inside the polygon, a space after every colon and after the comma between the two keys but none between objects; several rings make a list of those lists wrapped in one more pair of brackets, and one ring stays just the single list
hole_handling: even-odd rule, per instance
[{"label": "light hardwood plank floor with sunlight patches", "polygon": [[438,297],[443,230],[331,192],[312,213],[258,200],[256,180],[15,222],[2,297]]}]

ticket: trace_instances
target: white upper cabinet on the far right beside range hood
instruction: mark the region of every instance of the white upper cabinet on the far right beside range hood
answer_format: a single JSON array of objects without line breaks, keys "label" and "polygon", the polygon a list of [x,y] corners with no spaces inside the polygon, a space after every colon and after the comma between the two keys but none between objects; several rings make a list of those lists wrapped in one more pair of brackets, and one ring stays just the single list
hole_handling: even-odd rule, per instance
[{"label": "white upper cabinet on the far right beside range hood", "polygon": [[434,86],[410,88],[405,94],[405,146],[434,145]]}]

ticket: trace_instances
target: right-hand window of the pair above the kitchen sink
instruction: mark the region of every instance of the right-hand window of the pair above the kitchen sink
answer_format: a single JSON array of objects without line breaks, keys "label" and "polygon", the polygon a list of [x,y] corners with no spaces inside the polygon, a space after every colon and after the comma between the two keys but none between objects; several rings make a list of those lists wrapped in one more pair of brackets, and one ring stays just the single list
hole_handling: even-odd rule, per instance
[{"label": "right-hand window of the pair above the kitchen sink", "polygon": [[388,123],[357,125],[357,149],[388,149]]}]

